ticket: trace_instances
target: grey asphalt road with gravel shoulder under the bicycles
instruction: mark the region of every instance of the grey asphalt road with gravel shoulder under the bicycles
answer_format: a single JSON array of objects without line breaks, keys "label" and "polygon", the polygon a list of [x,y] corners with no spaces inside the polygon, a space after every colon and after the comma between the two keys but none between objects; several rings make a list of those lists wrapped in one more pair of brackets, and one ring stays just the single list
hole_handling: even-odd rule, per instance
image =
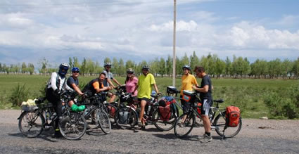
[{"label": "grey asphalt road with gravel shoulder under the bicycles", "polygon": [[[114,128],[111,134],[91,130],[78,141],[53,138],[53,130],[29,139],[18,129],[20,110],[0,110],[0,153],[299,153],[299,120],[243,119],[241,132],[221,140],[201,143],[203,127],[193,129],[186,139],[177,139],[173,129],[158,131]],[[136,127],[137,128],[137,127]]]}]

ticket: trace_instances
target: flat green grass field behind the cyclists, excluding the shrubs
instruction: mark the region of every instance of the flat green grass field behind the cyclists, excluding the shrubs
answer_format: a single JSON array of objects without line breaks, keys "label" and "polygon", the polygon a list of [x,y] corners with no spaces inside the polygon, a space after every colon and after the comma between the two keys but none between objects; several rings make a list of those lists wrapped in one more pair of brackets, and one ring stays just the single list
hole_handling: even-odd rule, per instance
[{"label": "flat green grass field behind the cyclists, excluding the shrubs", "polygon": [[[87,84],[96,77],[79,77],[80,86]],[[30,98],[40,95],[49,76],[40,75],[0,75],[0,108],[19,108],[11,107],[8,101],[12,90],[18,84],[25,84],[30,89]],[[125,77],[116,77],[120,83],[125,82]],[[169,77],[156,77],[156,83],[160,92],[165,94],[166,87],[172,85]],[[198,84],[201,79],[197,79]],[[221,106],[236,105],[242,110],[242,117],[258,118],[269,116],[269,110],[264,103],[267,91],[286,92],[286,89],[298,83],[295,79],[212,79],[214,99],[223,98],[225,103]],[[181,79],[176,79],[176,86],[180,87]],[[178,88],[179,89],[179,88]],[[24,100],[26,101],[26,100]]]}]

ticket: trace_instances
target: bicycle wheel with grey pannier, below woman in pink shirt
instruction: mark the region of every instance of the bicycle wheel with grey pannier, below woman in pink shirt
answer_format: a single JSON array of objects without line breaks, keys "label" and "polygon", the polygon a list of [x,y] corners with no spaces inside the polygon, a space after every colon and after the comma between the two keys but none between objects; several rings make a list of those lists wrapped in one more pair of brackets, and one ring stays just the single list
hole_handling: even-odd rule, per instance
[{"label": "bicycle wheel with grey pannier, below woman in pink shirt", "polygon": [[127,106],[115,112],[115,124],[121,129],[132,129],[137,124],[138,116],[135,110]]}]

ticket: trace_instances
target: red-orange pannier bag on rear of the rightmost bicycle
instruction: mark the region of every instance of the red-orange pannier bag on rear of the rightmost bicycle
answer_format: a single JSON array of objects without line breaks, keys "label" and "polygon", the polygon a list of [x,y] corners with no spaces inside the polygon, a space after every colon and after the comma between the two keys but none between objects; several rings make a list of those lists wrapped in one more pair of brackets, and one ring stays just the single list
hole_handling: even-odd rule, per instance
[{"label": "red-orange pannier bag on rear of the rightmost bicycle", "polygon": [[240,109],[236,106],[228,106],[225,117],[228,127],[237,127],[240,119]]}]

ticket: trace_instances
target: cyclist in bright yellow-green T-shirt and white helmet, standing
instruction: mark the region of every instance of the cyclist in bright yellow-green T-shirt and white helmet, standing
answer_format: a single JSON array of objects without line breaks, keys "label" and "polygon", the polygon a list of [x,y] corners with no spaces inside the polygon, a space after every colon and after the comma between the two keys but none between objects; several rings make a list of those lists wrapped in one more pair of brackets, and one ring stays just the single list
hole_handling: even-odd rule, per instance
[{"label": "cyclist in bright yellow-green T-shirt and white helmet, standing", "polygon": [[160,94],[157,88],[157,85],[155,84],[155,78],[151,73],[149,73],[149,68],[147,65],[144,65],[142,67],[142,75],[140,75],[138,79],[138,84],[133,92],[138,89],[137,98],[140,101],[140,115],[139,115],[139,121],[138,126],[141,127],[141,129],[145,129],[145,121],[144,121],[144,108],[146,107],[146,102],[151,101],[151,91],[152,86],[155,89],[155,92],[157,94]]}]

